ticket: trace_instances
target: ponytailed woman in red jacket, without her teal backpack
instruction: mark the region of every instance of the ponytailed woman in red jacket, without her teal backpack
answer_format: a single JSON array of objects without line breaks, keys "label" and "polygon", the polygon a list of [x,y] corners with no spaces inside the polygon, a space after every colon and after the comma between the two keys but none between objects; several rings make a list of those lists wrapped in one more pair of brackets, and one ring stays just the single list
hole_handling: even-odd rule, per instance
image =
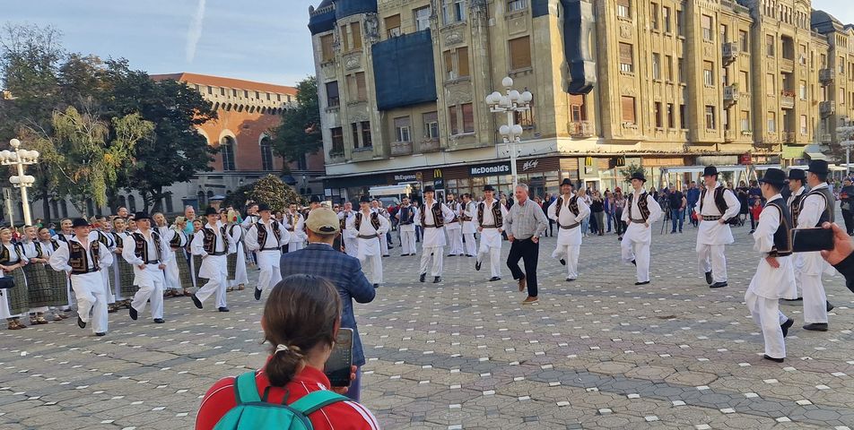
[{"label": "ponytailed woman in red jacket, without her teal backpack", "polygon": [[[323,366],[332,353],[341,325],[341,299],[329,281],[293,275],[280,281],[267,297],[261,328],[271,345],[266,366],[256,373],[258,395],[266,401],[292,404],[311,391],[328,390]],[[209,430],[236,406],[234,378],[214,383],[196,417],[196,430]],[[370,410],[354,401],[339,401],[309,414],[315,430],[379,430]]]}]

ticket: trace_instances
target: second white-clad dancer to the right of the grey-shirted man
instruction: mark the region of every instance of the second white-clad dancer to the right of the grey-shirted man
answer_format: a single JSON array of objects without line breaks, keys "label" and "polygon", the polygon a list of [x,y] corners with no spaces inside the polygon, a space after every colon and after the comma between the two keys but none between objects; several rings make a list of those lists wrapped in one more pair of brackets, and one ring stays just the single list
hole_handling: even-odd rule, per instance
[{"label": "second white-clad dancer to the right of the grey-shirted man", "polygon": [[661,206],[656,199],[643,189],[647,178],[643,173],[632,174],[632,193],[628,195],[623,211],[623,221],[628,224],[621,247],[623,262],[637,267],[638,281],[634,285],[649,284],[649,246],[652,243],[652,224],[661,218]]}]

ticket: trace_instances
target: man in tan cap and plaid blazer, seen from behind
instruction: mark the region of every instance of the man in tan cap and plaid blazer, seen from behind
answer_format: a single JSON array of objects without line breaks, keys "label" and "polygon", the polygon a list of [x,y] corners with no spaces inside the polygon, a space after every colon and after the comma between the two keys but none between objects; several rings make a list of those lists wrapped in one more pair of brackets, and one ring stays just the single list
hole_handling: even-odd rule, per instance
[{"label": "man in tan cap and plaid blazer, seen from behind", "polygon": [[335,284],[341,296],[341,327],[353,329],[353,366],[358,367],[356,379],[351,383],[347,397],[359,401],[365,354],[359,330],[356,328],[356,318],[353,316],[353,300],[358,303],[370,303],[376,292],[365,278],[359,259],[332,247],[335,237],[340,234],[340,224],[334,211],[328,208],[315,209],[309,212],[305,225],[309,245],[301,250],[282,254],[279,263],[282,279],[295,274],[306,274],[326,278]]}]

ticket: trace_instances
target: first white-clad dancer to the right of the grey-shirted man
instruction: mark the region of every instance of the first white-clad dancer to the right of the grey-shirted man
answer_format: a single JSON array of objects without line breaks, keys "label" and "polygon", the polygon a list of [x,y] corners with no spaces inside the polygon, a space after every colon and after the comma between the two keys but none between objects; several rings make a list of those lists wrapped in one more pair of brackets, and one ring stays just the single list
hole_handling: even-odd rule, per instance
[{"label": "first white-clad dancer to the right of the grey-shirted man", "polygon": [[557,222],[557,246],[553,258],[566,265],[566,280],[579,277],[579,253],[581,250],[581,221],[590,215],[590,207],[583,199],[572,193],[572,181],[567,178],[561,183],[561,196],[548,207],[549,218]]}]

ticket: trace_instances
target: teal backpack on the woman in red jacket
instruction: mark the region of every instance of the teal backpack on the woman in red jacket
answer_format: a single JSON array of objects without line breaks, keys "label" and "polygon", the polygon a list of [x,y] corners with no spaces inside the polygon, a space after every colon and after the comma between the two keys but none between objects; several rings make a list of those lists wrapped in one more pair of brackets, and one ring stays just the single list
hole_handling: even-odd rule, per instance
[{"label": "teal backpack on the woman in red jacket", "polygon": [[266,402],[258,396],[255,372],[235,378],[237,406],[231,408],[213,430],[312,430],[309,414],[339,401],[349,400],[333,391],[313,391],[290,405]]}]

